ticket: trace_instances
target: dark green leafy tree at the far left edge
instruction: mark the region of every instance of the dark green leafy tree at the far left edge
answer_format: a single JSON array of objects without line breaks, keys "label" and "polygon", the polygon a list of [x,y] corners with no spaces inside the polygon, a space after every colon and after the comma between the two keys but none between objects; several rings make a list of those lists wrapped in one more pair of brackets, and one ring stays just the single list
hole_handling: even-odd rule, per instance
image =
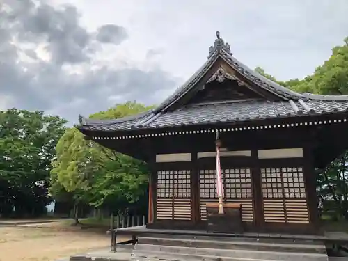
[{"label": "dark green leafy tree at the far left edge", "polygon": [[0,213],[40,214],[52,200],[49,171],[66,120],[42,111],[0,111]]}]

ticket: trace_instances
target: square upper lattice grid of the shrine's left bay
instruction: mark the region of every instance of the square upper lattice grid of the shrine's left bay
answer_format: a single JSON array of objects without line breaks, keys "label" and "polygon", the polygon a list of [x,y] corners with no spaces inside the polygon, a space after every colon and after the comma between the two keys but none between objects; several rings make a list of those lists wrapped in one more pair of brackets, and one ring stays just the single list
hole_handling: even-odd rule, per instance
[{"label": "square upper lattice grid of the shrine's left bay", "polygon": [[157,171],[157,198],[190,198],[189,170]]}]

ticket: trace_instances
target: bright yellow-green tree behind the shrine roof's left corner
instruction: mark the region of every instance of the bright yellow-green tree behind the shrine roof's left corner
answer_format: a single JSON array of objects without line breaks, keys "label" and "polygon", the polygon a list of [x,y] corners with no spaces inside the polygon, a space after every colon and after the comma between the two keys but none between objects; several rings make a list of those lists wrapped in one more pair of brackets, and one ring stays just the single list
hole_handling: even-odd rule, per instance
[{"label": "bright yellow-green tree behind the shrine roof's left corner", "polygon": [[[90,118],[113,119],[151,109],[136,102],[116,104]],[[127,155],[84,140],[76,128],[68,129],[56,146],[56,161],[51,173],[51,191],[58,198],[71,193],[75,202],[75,221],[79,203],[113,208],[132,203],[145,193],[148,180],[146,165]],[[65,191],[65,192],[64,192]]]}]

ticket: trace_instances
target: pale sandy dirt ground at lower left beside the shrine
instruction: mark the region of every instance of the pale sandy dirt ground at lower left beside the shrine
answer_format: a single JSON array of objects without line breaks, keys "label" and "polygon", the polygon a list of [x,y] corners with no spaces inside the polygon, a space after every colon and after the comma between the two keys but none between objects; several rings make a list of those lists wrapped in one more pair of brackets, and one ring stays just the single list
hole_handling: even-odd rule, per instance
[{"label": "pale sandy dirt ground at lower left beside the shrine", "polygon": [[61,223],[0,226],[0,261],[54,261],[110,245],[110,235]]}]

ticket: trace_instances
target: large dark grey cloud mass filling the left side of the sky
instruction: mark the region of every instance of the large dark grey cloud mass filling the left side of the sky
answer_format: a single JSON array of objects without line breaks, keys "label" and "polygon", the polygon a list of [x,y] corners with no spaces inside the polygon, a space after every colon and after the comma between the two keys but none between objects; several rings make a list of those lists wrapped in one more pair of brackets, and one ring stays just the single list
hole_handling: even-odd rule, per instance
[{"label": "large dark grey cloud mass filling the left side of the sky", "polygon": [[[127,38],[127,31],[107,24],[90,32],[81,26],[74,6],[54,7],[34,1],[5,0],[5,5],[0,6],[3,104],[58,113],[76,122],[79,113],[88,116],[108,109],[116,100],[159,102],[148,93],[175,86],[177,79],[159,69],[92,69],[96,52],[103,44],[119,45]],[[39,46],[45,54],[37,51]],[[78,69],[72,70],[74,66]]]}]

